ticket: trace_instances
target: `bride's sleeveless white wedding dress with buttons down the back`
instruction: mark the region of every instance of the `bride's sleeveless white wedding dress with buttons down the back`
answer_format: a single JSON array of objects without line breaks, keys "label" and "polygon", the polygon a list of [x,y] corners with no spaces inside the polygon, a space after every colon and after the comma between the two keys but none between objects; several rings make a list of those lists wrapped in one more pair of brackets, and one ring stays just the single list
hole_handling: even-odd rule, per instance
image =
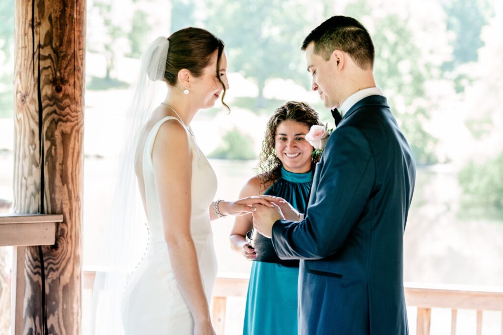
[{"label": "bride's sleeveless white wedding dress with buttons down the back", "polygon": [[[122,322],[126,335],[194,333],[194,320],[180,291],[164,241],[159,201],[155,191],[152,147],[159,127],[150,130],[143,151],[142,168],[148,212],[149,244],[146,254],[128,281],[122,299]],[[185,126],[184,126],[185,128]],[[188,132],[192,150],[191,235],[196,246],[201,279],[208,303],[217,275],[208,207],[216,193],[217,180],[210,163]]]}]

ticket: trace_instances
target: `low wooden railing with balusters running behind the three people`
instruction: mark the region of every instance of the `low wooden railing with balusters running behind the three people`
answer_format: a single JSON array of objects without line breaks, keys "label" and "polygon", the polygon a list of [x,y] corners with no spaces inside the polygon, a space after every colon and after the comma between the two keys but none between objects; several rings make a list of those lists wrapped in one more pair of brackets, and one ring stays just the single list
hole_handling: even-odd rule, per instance
[{"label": "low wooden railing with balusters running behind the three people", "polygon": [[[84,271],[83,286],[93,288],[95,272]],[[245,297],[248,289],[246,276],[219,274],[213,290],[212,322],[217,334],[225,330],[227,297]],[[501,312],[501,335],[503,335],[503,287],[479,287],[442,284],[405,283],[407,306],[417,307],[416,335],[430,334],[432,308],[451,309],[451,335],[456,334],[458,309],[477,311],[476,334],[482,333],[482,311]]]}]

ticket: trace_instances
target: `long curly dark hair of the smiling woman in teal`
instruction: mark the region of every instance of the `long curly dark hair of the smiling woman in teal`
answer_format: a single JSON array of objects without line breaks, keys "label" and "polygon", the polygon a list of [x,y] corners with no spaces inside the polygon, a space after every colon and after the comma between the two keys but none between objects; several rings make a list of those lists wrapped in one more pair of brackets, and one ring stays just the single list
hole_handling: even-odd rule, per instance
[{"label": "long curly dark hair of the smiling woman in teal", "polygon": [[[278,180],[281,176],[282,163],[278,156],[276,156],[274,146],[276,144],[276,130],[282,122],[287,120],[304,124],[309,129],[314,125],[323,126],[319,120],[318,113],[305,102],[288,101],[278,107],[267,123],[264,142],[262,142],[262,151],[260,152],[260,162],[255,169],[264,185]],[[319,153],[313,154],[311,167],[314,167],[319,162],[320,157],[321,154]]]}]

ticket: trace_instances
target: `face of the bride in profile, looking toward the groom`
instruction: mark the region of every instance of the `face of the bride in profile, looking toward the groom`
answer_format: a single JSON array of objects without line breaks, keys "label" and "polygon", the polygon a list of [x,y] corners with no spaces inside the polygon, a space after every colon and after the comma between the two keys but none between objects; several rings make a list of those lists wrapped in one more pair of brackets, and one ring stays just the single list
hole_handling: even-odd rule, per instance
[{"label": "face of the bride in profile, looking toward the groom", "polygon": [[[211,63],[203,70],[203,74],[194,78],[194,82],[189,88],[190,94],[195,96],[200,101],[200,108],[211,108],[216,100],[220,97],[223,91],[222,84],[218,80],[216,66],[217,66],[218,50],[213,54]],[[229,89],[229,81],[227,80],[227,55],[222,53],[220,59],[220,79],[225,84],[225,89]]]}]

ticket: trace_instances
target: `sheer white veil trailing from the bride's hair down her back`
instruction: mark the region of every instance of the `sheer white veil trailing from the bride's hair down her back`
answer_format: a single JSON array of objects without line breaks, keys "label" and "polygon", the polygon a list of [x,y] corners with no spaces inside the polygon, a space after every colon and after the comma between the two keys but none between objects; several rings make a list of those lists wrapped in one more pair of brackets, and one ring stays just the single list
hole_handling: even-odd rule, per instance
[{"label": "sheer white veil trailing from the bride's hair down her back", "polygon": [[98,246],[101,265],[93,290],[92,334],[123,334],[122,294],[147,247],[146,217],[134,173],[135,151],[152,109],[165,96],[167,85],[163,78],[169,47],[166,37],[158,37],[150,44],[141,56],[140,71],[131,86],[133,95],[123,127],[110,218],[104,227],[104,242]]}]

